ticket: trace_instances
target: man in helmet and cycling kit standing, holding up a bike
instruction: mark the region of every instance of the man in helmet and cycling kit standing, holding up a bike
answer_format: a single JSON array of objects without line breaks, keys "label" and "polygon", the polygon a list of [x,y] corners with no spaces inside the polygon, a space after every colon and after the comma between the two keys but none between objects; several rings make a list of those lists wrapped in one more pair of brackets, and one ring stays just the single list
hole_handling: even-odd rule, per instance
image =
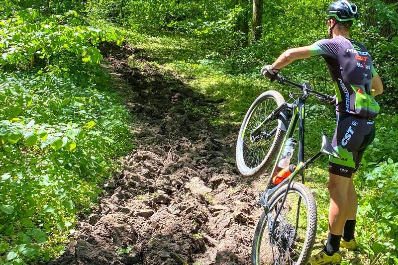
[{"label": "man in helmet and cycling kit standing, holding up a bike", "polygon": [[311,265],[338,264],[340,245],[351,250],[357,247],[354,229],[358,200],[353,177],[366,147],[375,138],[374,118],[380,108],[374,96],[383,92],[369,52],[350,37],[350,26],[357,18],[354,3],[333,1],[327,8],[329,39],[289,49],[261,69],[273,81],[293,61],[320,55],[336,91],[337,126],[332,146],[341,158],[329,158],[329,234],[324,249],[311,257]]}]

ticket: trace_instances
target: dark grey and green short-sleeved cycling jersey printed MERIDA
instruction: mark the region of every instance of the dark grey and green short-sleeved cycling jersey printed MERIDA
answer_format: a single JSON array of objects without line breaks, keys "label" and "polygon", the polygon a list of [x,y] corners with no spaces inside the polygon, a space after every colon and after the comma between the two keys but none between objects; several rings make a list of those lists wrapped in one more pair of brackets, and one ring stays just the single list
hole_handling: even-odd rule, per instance
[{"label": "dark grey and green short-sleeved cycling jersey printed MERIDA", "polygon": [[326,61],[336,90],[337,114],[364,118],[377,116],[380,107],[371,95],[372,78],[377,72],[365,46],[336,36],[312,44],[310,55],[321,55]]}]

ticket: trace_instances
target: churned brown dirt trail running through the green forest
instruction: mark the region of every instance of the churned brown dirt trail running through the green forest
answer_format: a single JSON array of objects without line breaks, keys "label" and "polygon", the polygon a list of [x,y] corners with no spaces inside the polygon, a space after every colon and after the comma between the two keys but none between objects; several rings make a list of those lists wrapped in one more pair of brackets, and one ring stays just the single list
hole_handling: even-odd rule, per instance
[{"label": "churned brown dirt trail running through the green forest", "polygon": [[142,51],[107,44],[102,54],[136,117],[135,148],[51,264],[249,264],[258,190],[234,168],[238,128],[212,127],[203,113],[214,102]]}]

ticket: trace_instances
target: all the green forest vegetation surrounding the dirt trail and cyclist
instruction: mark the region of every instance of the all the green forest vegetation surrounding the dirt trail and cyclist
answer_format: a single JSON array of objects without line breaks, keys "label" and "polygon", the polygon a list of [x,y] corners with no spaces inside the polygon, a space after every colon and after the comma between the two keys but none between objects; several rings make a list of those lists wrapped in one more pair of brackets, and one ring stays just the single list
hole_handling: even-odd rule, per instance
[{"label": "all the green forest vegetation surrounding the dirt trail and cyclist", "polygon": [[[0,263],[36,264],[60,255],[78,214],[90,213],[100,183],[133,148],[132,118],[100,66],[100,42],[126,40],[163,58],[158,63],[165,68],[195,77],[199,91],[226,99],[214,126],[239,124],[265,89],[286,98],[289,90],[270,85],[259,70],[288,48],[325,38],[328,4],[0,0]],[[377,136],[355,179],[358,241],[373,263],[398,264],[398,3],[356,4],[360,19],[352,36],[368,47],[385,87],[377,98]],[[283,73],[333,93],[321,58],[295,62]],[[321,130],[332,134],[335,126],[332,110],[310,105],[308,152],[318,148],[313,139]],[[319,168],[309,176],[326,182]],[[317,200],[327,200],[324,185],[312,188]],[[326,206],[319,207],[325,216]],[[325,217],[319,229],[327,229]]]}]

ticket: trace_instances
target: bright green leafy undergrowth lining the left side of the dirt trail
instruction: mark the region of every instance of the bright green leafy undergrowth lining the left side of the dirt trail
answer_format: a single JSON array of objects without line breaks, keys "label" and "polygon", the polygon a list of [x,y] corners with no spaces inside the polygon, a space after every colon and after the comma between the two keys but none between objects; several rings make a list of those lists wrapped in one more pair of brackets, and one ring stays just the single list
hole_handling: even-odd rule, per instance
[{"label": "bright green leafy undergrowth lining the left side of the dirt trail", "polygon": [[[0,264],[48,261],[131,149],[129,114],[100,68],[114,30],[75,11],[0,10]],[[7,9],[8,8],[8,9]],[[55,8],[55,7],[54,7]],[[55,12],[56,10],[52,10]]]}]

